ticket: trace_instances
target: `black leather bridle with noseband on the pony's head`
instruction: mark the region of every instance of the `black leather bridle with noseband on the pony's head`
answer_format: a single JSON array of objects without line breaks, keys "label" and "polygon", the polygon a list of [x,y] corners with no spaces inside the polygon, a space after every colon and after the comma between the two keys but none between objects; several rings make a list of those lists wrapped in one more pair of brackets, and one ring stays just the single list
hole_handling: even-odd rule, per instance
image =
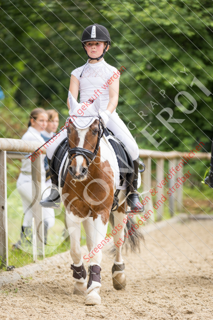
[{"label": "black leather bridle with noseband on the pony's head", "polygon": [[[103,132],[104,132],[104,124],[102,122],[101,117],[100,116],[98,116],[98,117],[99,117],[99,119],[98,119],[99,120],[99,123],[98,123],[98,128],[99,128],[99,130],[98,130],[98,141],[97,141],[97,144],[96,144],[94,152],[92,152],[92,151],[90,151],[88,149],[85,149],[85,148],[79,148],[79,147],[70,148],[68,132],[67,132],[68,157],[71,160],[71,162],[75,157],[83,156],[87,161],[87,166],[89,167],[89,165],[92,163],[92,161],[97,156],[99,145],[100,145],[100,140],[103,137]],[[73,154],[75,154],[75,155],[72,156]]]}]

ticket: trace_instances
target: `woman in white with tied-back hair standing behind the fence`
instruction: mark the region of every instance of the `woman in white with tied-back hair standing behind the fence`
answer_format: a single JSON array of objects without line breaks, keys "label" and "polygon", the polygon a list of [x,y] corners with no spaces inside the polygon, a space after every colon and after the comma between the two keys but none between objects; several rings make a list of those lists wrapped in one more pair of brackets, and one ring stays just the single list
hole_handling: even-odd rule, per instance
[{"label": "woman in white with tied-back hair standing behind the fence", "polygon": [[[29,127],[27,132],[22,136],[22,140],[27,141],[36,141],[38,146],[45,143],[44,139],[41,136],[42,130],[46,128],[48,121],[48,116],[46,111],[43,108],[36,108],[32,110],[30,114]],[[44,168],[44,157],[42,157],[42,192],[47,188],[45,183],[46,181],[46,171]],[[24,219],[22,223],[22,232],[21,238],[23,238],[23,231],[32,227],[32,218],[34,205],[33,199],[35,196],[35,188],[32,187],[32,169],[31,169],[31,160],[23,159],[21,172],[17,180],[17,189],[22,199],[23,210],[24,210]],[[43,209],[43,219],[45,226],[45,237],[47,235],[48,228],[51,228],[55,224],[55,213],[53,209],[45,208]],[[19,244],[19,243],[18,243]],[[15,245],[16,246],[16,245]],[[18,247],[18,246],[17,246]]]}]

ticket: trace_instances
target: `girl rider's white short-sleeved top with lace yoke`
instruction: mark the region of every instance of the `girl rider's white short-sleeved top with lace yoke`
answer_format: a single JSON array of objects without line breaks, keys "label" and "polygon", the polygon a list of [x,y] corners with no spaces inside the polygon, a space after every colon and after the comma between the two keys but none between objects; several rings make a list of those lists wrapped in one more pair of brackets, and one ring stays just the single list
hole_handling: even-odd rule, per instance
[{"label": "girl rider's white short-sleeved top with lace yoke", "polygon": [[73,70],[71,75],[80,82],[80,102],[96,100],[100,96],[101,108],[106,110],[109,103],[109,84],[120,77],[117,71],[104,59],[97,63],[87,61],[82,67]]}]

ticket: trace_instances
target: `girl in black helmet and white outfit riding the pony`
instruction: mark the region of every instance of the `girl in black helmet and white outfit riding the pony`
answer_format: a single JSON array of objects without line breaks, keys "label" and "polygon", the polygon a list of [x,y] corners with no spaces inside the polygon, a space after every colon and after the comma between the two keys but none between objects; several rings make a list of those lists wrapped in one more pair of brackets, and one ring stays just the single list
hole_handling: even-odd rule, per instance
[{"label": "girl in black helmet and white outfit riding the pony", "polygon": [[[110,46],[110,34],[102,25],[94,24],[88,26],[84,30],[81,43],[89,59],[82,67],[72,71],[69,91],[76,100],[80,92],[80,103],[88,101],[89,99],[96,100],[97,96],[101,95],[101,111],[99,111],[99,114],[107,128],[124,143],[132,157],[135,172],[133,188],[136,191],[139,149],[132,134],[116,112],[116,107],[118,105],[119,76],[116,79],[114,77],[113,82],[109,81],[111,83],[105,90],[102,88],[115,73],[118,75],[118,70],[110,66],[103,59],[104,54],[108,51]],[[67,100],[67,105],[70,109],[69,100]],[[65,136],[66,132],[64,130],[63,138],[65,138]],[[57,141],[58,143],[60,142],[59,140]],[[53,145],[54,143],[51,145],[51,149],[47,149],[48,158],[51,158],[52,153],[54,152]],[[56,147],[57,144],[54,149]],[[57,181],[52,182],[57,185]],[[127,192],[129,192],[129,190],[127,190]],[[59,198],[60,196],[57,189],[54,188],[51,189],[50,196],[43,199],[40,203],[45,207],[57,206],[60,200]],[[127,199],[127,204],[130,206],[131,210],[134,210],[135,207],[137,207],[137,202],[140,202],[138,194],[135,192],[131,193]]]}]

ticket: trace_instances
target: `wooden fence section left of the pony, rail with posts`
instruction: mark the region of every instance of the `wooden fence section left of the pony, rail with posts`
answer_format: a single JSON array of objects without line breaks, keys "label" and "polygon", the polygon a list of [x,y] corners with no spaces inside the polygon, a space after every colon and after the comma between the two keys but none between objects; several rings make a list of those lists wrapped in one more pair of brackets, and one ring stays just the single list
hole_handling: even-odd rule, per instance
[{"label": "wooden fence section left of the pony, rail with posts", "polygon": [[[8,265],[8,230],[7,230],[7,158],[24,159],[26,153],[33,153],[38,148],[37,142],[23,141],[19,139],[4,139],[0,138],[0,257],[4,264]],[[46,153],[45,148],[41,148],[43,153]],[[34,259],[36,260],[37,250],[39,254],[44,256],[44,228],[43,228],[43,210],[39,205],[41,199],[41,157],[35,158],[32,161],[32,181],[36,188],[36,199],[34,204],[33,218],[35,223],[35,230],[40,226],[42,230],[41,236],[36,232],[37,249],[34,250]],[[42,221],[42,225],[41,225]],[[34,237],[33,237],[34,238]]]}]

